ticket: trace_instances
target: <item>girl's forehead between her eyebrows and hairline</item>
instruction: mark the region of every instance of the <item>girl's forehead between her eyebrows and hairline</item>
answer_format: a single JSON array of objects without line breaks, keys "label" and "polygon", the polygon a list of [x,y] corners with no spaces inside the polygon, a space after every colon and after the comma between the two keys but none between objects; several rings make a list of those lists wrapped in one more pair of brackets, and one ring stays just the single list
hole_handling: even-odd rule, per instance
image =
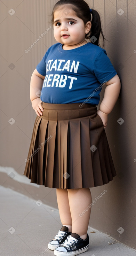
[{"label": "girl's forehead between her eyebrows and hairline", "polygon": [[58,7],[54,12],[54,20],[67,17],[77,17],[77,14],[70,5],[62,5]]}]

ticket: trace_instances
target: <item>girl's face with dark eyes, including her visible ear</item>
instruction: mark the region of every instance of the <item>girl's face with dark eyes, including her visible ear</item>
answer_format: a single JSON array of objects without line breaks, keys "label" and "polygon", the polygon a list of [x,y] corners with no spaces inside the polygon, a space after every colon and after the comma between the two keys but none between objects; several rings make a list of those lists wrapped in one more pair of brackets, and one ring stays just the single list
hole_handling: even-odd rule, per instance
[{"label": "girl's face with dark eyes, including her visible ear", "polygon": [[90,28],[90,22],[85,25],[83,20],[66,6],[57,9],[54,13],[54,37],[58,43],[65,46],[66,50],[86,44],[85,36]]}]

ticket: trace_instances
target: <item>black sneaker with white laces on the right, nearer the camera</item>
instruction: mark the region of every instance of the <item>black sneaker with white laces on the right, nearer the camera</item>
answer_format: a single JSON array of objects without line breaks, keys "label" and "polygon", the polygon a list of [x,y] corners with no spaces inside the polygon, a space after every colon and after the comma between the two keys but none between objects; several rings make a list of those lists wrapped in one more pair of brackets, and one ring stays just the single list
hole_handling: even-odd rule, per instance
[{"label": "black sneaker with white laces on the right, nearer the camera", "polygon": [[81,239],[76,233],[72,233],[67,236],[65,242],[63,242],[59,247],[54,250],[54,255],[56,256],[66,256],[66,255],[78,255],[87,251],[89,246],[89,236],[85,240]]}]

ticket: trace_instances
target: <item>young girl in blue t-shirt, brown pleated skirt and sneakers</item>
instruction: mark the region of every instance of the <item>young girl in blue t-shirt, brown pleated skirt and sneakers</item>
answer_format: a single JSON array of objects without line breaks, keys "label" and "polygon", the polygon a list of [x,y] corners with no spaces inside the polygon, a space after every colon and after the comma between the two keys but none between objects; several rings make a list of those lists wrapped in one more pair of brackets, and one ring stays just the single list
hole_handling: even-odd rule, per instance
[{"label": "young girl in blue t-shirt, brown pleated skirt and sneakers", "polygon": [[104,128],[118,99],[120,80],[99,47],[99,36],[104,42],[104,35],[96,10],[83,0],[60,0],[52,23],[58,43],[48,49],[31,77],[30,99],[37,118],[24,175],[57,189],[63,226],[48,248],[58,256],[78,255],[89,245],[89,188],[116,175]]}]

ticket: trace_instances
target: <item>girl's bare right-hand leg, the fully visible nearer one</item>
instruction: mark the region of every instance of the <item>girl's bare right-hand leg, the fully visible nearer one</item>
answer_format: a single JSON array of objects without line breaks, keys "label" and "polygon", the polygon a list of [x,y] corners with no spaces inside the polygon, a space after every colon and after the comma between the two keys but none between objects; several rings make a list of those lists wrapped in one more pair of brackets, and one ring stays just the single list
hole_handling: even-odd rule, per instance
[{"label": "girl's bare right-hand leg, the fully visible nearer one", "polygon": [[[82,239],[87,238],[87,229],[91,213],[91,192],[89,188],[67,189],[70,212],[72,217],[72,233],[77,233]],[[82,214],[83,211],[84,214]]]}]

